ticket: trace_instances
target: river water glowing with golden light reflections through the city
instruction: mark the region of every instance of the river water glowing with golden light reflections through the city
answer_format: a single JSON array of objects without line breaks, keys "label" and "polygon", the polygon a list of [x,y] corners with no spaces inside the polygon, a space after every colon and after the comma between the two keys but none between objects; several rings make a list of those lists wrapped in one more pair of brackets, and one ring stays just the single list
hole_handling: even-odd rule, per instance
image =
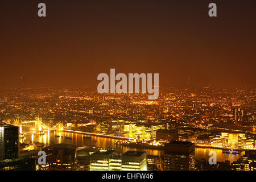
[{"label": "river water glowing with golden light reflections through the city", "polygon": [[[58,135],[60,137],[55,137]],[[76,133],[67,133],[67,132],[59,132],[59,131],[49,131],[44,135],[26,135],[25,138],[20,139],[20,142],[24,143],[35,143],[40,142],[44,143],[47,146],[50,144],[56,143],[67,143],[67,144],[74,144],[77,146],[97,146],[97,147],[104,147],[104,148],[115,148],[117,151],[126,152],[127,150],[143,150],[146,151],[147,154],[150,155],[163,155],[163,151],[159,150],[149,150],[149,149],[136,149],[130,147],[116,147],[114,146],[114,142],[118,139],[112,138],[103,138],[103,137],[96,137],[91,136],[92,140],[84,139],[83,137],[89,137],[89,135],[84,134],[76,134]],[[215,151],[217,154],[217,161],[218,162],[225,162],[225,160],[229,160],[230,162],[238,160],[241,155],[232,155],[232,154],[224,154],[222,153],[221,149],[212,149],[212,148],[196,148],[195,150],[195,158],[200,159],[209,159],[209,151]],[[243,155],[243,152],[241,153]]]}]

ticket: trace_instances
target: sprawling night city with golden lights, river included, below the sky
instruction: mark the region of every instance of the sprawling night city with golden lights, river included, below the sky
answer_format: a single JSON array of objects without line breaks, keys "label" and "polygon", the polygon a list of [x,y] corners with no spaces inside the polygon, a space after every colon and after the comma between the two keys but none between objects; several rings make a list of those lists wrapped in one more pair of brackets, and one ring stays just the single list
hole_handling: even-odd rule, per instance
[{"label": "sprawling night city with golden lights, river included, below the sky", "polygon": [[0,170],[255,170],[255,92],[170,88],[150,101],[84,88],[1,89]]}]

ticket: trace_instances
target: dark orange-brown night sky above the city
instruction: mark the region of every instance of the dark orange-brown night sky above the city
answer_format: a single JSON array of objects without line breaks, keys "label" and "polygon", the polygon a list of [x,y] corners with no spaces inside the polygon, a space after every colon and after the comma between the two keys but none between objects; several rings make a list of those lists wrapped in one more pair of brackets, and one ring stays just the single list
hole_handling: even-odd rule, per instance
[{"label": "dark orange-brown night sky above the city", "polygon": [[[38,3],[47,16],[38,16]],[[217,4],[217,18],[208,5]],[[160,86],[256,86],[255,0],[0,1],[0,87],[97,88],[97,75],[159,73]]]}]

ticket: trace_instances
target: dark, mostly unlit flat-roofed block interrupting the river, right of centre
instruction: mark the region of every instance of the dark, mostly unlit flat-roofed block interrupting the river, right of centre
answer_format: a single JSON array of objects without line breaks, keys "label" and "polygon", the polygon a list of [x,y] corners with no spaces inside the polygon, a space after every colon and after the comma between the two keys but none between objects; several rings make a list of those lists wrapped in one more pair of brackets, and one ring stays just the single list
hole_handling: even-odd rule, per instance
[{"label": "dark, mostly unlit flat-roofed block interrupting the river, right of centre", "polygon": [[195,144],[172,141],[164,145],[164,171],[195,170]]}]

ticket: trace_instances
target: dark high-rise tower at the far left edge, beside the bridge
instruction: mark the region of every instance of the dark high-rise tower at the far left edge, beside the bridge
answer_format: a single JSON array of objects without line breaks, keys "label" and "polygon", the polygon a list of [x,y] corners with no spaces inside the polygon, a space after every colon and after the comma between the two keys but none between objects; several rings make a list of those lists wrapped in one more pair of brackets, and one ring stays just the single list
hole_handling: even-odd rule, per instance
[{"label": "dark high-rise tower at the far left edge, beside the bridge", "polygon": [[19,127],[0,126],[0,160],[19,158]]}]

